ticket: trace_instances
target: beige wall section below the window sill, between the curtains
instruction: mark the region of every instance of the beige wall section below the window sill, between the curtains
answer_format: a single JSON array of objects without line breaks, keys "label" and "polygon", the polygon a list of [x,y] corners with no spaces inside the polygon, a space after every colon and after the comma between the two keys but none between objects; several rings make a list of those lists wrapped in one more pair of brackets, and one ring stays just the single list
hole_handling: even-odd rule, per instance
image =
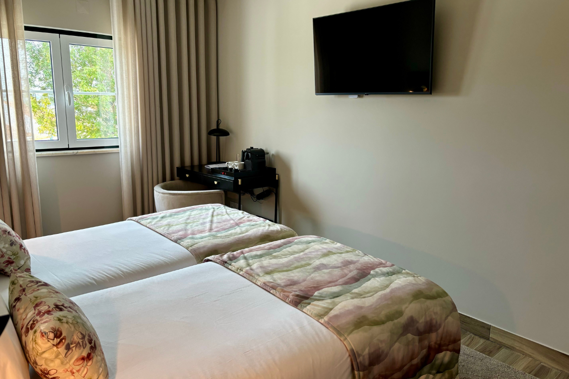
[{"label": "beige wall section below the window sill, between the curtains", "polygon": [[118,152],[38,157],[44,235],[122,221]]}]

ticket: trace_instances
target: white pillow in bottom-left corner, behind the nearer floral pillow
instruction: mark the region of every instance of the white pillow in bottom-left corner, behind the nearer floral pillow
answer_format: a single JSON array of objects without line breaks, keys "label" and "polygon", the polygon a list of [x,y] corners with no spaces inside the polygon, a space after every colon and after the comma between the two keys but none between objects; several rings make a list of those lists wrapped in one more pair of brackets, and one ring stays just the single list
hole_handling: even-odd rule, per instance
[{"label": "white pillow in bottom-left corner, behind the nearer floral pillow", "polygon": [[0,378],[30,379],[28,361],[2,298],[0,298]]}]

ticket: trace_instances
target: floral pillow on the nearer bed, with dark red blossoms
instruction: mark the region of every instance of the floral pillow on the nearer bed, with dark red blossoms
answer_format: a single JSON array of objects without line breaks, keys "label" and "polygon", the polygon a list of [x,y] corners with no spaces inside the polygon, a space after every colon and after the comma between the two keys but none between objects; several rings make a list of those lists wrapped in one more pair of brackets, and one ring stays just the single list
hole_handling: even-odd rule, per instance
[{"label": "floral pillow on the nearer bed, with dark red blossoms", "polygon": [[31,274],[10,276],[10,313],[28,362],[46,379],[107,379],[99,338],[79,306]]}]

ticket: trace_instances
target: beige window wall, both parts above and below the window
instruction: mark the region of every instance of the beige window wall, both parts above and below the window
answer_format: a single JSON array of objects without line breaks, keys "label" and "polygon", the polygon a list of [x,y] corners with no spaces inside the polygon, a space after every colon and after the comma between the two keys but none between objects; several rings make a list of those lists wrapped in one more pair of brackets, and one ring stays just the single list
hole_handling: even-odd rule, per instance
[{"label": "beige window wall, both parts above and below the window", "polygon": [[[111,34],[109,0],[23,0],[28,25]],[[44,235],[122,220],[118,153],[38,157]]]}]

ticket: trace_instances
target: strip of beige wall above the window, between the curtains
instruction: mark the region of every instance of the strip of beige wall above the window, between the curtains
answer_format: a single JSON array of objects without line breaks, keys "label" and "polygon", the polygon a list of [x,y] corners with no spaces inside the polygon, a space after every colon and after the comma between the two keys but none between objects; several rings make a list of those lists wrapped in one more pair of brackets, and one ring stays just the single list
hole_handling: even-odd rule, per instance
[{"label": "strip of beige wall above the window, between the curtains", "polygon": [[[109,0],[80,0],[79,8],[77,3],[77,0],[22,0],[24,24],[112,33]],[[80,13],[78,9],[89,13]]]}]

